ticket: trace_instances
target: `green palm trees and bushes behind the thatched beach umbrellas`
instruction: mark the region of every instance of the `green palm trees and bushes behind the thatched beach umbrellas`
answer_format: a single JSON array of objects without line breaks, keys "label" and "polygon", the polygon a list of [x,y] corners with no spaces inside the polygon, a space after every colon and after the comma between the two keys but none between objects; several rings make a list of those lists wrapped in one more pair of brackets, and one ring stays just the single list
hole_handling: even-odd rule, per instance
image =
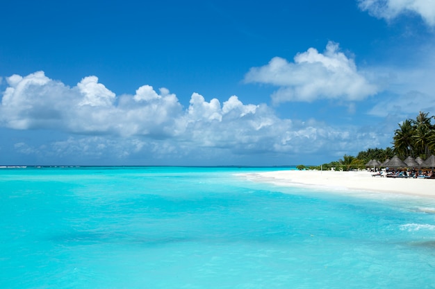
[{"label": "green palm trees and bushes behind the thatched beach umbrellas", "polygon": [[329,164],[322,164],[322,166],[306,167],[300,165],[297,168],[299,170],[305,168],[350,170],[363,168],[372,159],[382,163],[395,155],[402,160],[409,156],[427,159],[435,153],[435,125],[432,124],[432,119],[435,119],[435,116],[429,116],[429,113],[420,112],[416,119],[407,119],[399,123],[399,128],[394,132],[392,148],[369,148],[359,152],[356,157],[344,155],[342,159],[331,161]]}]

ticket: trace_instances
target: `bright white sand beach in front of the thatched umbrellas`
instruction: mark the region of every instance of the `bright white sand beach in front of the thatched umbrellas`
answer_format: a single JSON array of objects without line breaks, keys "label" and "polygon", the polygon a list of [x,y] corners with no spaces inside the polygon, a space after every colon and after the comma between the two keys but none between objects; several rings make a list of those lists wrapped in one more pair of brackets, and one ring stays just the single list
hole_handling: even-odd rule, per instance
[{"label": "bright white sand beach in front of the thatched umbrellas", "polygon": [[241,175],[255,182],[282,186],[311,186],[333,191],[347,189],[435,198],[435,179],[372,177],[368,171],[279,170]]}]

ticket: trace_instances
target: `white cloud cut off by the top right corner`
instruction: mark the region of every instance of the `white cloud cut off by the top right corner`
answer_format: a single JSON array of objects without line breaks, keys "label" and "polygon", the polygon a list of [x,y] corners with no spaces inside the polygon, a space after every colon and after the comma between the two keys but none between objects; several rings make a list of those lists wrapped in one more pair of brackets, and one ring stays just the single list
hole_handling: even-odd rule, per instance
[{"label": "white cloud cut off by the top right corner", "polygon": [[359,0],[359,8],[368,11],[370,15],[387,20],[407,12],[416,13],[429,26],[435,26],[433,0]]}]

